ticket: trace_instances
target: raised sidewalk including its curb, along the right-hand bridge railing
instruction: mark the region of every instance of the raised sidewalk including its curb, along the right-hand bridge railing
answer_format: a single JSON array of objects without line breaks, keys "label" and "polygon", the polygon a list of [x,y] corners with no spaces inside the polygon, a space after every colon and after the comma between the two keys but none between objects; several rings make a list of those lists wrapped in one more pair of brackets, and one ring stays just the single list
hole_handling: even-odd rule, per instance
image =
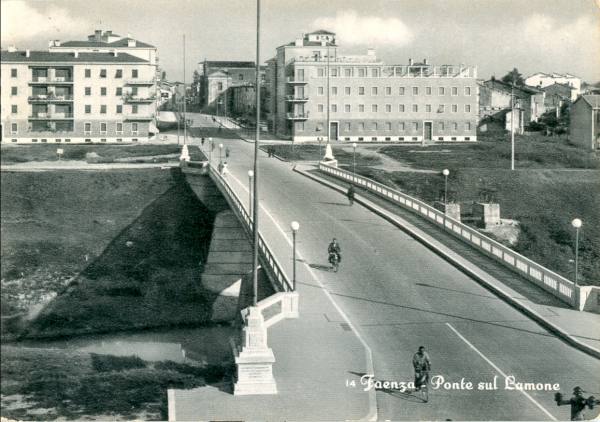
[{"label": "raised sidewalk including its curb, along the right-hand bridge railing", "polygon": [[[298,166],[296,171],[345,194],[348,184]],[[383,198],[356,188],[356,202],[408,232],[480,284],[579,350],[600,358],[600,315],[570,308],[454,236]],[[502,281],[500,281],[502,280]]]}]

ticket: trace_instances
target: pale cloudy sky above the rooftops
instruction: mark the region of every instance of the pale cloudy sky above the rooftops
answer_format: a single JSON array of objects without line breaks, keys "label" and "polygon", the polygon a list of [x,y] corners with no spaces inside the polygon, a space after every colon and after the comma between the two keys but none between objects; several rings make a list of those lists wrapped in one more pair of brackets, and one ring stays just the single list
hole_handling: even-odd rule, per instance
[{"label": "pale cloudy sky above the rooftops", "polygon": [[[256,58],[256,0],[1,0],[1,44],[47,49],[112,30],[158,48],[169,80],[205,58]],[[337,34],[340,53],[375,48],[386,64],[428,58],[478,76],[571,73],[600,81],[600,0],[261,0],[261,61],[303,33]]]}]

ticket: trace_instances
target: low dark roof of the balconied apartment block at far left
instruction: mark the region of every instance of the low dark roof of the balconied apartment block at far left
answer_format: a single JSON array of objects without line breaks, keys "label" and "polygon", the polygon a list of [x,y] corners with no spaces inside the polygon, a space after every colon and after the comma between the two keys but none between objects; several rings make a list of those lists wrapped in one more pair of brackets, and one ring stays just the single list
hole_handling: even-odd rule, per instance
[{"label": "low dark roof of the balconied apartment block at far left", "polygon": [[74,53],[50,52],[50,51],[30,51],[29,57],[25,51],[2,51],[0,60],[2,62],[24,62],[24,63],[148,63],[147,60],[132,56],[127,53],[119,53],[116,56],[113,53],[79,53],[75,57]]}]

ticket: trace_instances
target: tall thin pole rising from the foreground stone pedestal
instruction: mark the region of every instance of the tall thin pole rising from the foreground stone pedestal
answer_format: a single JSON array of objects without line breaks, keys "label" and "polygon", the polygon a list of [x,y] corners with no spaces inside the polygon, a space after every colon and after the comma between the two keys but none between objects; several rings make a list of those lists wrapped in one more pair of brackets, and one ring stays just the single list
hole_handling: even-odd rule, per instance
[{"label": "tall thin pole rising from the foreground stone pedestal", "polygon": [[256,132],[254,136],[254,206],[252,207],[252,305],[258,303],[258,141],[260,139],[260,0],[256,0]]}]

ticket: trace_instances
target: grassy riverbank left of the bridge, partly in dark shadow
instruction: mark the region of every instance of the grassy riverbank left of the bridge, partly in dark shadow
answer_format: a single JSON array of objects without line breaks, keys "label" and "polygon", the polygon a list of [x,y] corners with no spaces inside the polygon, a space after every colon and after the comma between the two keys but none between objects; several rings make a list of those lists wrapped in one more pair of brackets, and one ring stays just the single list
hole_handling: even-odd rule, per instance
[{"label": "grassy riverbank left of the bridge, partly in dark shadow", "polygon": [[214,216],[178,169],[3,172],[2,199],[2,314],[51,298],[29,336],[206,322]]}]

